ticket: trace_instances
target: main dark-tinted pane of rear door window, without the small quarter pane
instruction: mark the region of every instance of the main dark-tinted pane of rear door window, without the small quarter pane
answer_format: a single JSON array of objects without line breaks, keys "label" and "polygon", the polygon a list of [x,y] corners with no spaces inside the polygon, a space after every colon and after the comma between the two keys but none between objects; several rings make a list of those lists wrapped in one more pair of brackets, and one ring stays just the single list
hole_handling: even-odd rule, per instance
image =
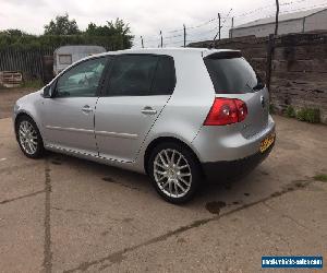
[{"label": "main dark-tinted pane of rear door window, without the small quarter pane", "polygon": [[110,80],[110,96],[146,96],[158,63],[158,56],[122,55],[113,62]]}]

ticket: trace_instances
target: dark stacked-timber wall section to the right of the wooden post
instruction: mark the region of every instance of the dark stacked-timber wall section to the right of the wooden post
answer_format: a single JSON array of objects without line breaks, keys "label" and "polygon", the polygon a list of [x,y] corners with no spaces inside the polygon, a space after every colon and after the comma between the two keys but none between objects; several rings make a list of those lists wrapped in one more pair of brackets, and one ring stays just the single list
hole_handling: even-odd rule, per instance
[{"label": "dark stacked-timber wall section to the right of the wooden post", "polygon": [[279,111],[289,105],[318,108],[322,122],[327,124],[327,34],[293,36],[276,41],[271,102]]}]

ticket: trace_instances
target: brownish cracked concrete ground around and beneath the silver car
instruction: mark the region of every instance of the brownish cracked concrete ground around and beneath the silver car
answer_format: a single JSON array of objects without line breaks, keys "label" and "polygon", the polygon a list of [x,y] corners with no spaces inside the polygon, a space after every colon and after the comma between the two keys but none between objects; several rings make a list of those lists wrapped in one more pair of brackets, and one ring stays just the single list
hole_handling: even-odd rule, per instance
[{"label": "brownish cracked concrete ground around and beneath the silver car", "polygon": [[327,127],[275,119],[259,167],[182,206],[143,175],[55,153],[28,159],[0,119],[0,272],[259,272],[262,256],[288,254],[326,263],[327,182],[313,177],[327,173]]}]

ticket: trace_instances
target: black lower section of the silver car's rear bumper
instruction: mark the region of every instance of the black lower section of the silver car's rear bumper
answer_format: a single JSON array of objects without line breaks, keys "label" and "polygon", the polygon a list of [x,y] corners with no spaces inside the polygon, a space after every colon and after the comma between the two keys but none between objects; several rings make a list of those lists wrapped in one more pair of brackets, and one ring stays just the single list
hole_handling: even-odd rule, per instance
[{"label": "black lower section of the silver car's rear bumper", "polygon": [[203,163],[202,167],[206,179],[208,181],[218,182],[247,175],[269,155],[275,142],[264,153],[257,152],[242,159]]}]

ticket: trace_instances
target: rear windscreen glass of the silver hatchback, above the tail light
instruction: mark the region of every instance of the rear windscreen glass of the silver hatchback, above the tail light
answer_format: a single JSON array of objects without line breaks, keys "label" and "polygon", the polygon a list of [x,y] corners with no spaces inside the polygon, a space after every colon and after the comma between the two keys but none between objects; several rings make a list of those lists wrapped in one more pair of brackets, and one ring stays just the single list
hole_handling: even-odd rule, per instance
[{"label": "rear windscreen glass of the silver hatchback, above the tail light", "polygon": [[250,63],[239,55],[213,55],[204,61],[216,94],[251,93],[265,86]]}]

